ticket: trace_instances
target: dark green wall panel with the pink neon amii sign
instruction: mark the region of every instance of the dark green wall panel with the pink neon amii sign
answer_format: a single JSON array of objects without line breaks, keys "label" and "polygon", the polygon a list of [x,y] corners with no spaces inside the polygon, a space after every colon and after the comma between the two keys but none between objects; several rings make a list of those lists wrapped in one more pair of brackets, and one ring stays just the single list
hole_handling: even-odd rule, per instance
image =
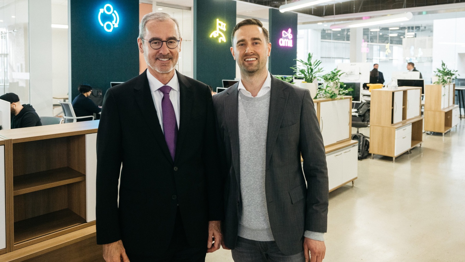
[{"label": "dark green wall panel with the pink neon amii sign", "polygon": [[[271,55],[268,70],[273,75],[293,75],[293,70],[290,67],[296,64],[294,59],[297,58],[297,14],[281,13],[278,9],[273,8],[269,12]],[[282,32],[287,32],[289,28],[291,28],[292,34],[292,47],[280,46],[279,39],[283,38]]]}]

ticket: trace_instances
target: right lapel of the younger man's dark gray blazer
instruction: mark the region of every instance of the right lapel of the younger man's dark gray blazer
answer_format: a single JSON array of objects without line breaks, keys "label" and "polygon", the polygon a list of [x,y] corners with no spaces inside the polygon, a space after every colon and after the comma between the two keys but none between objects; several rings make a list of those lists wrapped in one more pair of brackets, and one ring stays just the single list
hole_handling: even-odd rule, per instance
[{"label": "right lapel of the younger man's dark gray blazer", "polygon": [[278,78],[271,76],[270,112],[268,115],[268,131],[266,133],[266,166],[268,166],[273,147],[278,138],[279,127],[286,109],[288,93],[286,85]]}]

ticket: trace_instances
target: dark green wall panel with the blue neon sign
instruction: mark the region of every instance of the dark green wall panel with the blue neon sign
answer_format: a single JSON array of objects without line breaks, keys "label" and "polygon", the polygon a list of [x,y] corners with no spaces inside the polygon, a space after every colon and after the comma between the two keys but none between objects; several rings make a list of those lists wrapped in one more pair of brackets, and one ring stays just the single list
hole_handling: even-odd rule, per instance
[{"label": "dark green wall panel with the blue neon sign", "polygon": [[[100,8],[111,4],[120,22],[106,32],[99,22]],[[73,0],[70,5],[71,99],[81,83],[105,91],[110,82],[125,82],[139,75],[139,2],[127,0]],[[109,10],[109,9],[107,9]],[[101,21],[113,21],[103,13]],[[109,26],[108,26],[109,28]]]}]

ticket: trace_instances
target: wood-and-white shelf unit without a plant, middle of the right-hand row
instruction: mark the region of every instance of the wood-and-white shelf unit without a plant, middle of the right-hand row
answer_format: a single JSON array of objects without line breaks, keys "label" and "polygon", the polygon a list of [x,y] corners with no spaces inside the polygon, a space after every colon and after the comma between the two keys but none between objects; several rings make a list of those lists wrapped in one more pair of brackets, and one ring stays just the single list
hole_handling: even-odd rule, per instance
[{"label": "wood-and-white shelf unit without a plant, middle of the right-hand row", "polygon": [[372,90],[370,153],[392,157],[392,162],[423,143],[421,88]]}]

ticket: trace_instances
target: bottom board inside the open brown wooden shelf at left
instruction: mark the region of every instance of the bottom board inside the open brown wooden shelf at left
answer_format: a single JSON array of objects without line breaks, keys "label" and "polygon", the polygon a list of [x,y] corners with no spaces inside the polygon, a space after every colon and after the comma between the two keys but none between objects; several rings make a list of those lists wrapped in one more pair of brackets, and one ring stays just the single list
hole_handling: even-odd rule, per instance
[{"label": "bottom board inside the open brown wooden shelf at left", "polygon": [[14,223],[14,243],[73,227],[86,220],[68,208]]}]

